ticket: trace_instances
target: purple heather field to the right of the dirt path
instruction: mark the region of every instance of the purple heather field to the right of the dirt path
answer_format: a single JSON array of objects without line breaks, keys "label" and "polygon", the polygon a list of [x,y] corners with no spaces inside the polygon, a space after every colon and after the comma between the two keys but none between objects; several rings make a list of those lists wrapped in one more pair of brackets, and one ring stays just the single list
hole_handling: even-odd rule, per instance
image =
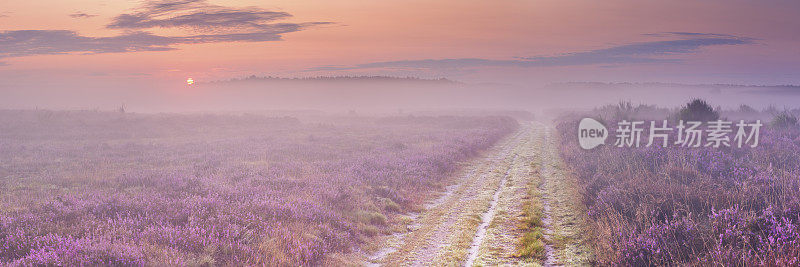
[{"label": "purple heather field to the right of the dirt path", "polygon": [[800,130],[791,112],[706,108],[711,117],[762,118],[756,147],[583,150],[575,138],[583,115],[612,126],[613,144],[618,121],[669,119],[675,125],[692,112],[702,113],[690,106],[622,104],[560,118],[560,154],[580,181],[597,264],[800,264]]}]

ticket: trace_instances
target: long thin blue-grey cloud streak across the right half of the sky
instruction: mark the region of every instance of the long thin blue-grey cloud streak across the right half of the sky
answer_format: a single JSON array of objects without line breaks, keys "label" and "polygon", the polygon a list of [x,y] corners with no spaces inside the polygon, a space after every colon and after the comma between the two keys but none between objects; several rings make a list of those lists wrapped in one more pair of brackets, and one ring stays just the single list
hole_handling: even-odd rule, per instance
[{"label": "long thin blue-grey cloud streak across the right half of the sky", "polygon": [[[318,67],[309,69],[308,71],[367,68],[461,69],[474,67],[553,67],[577,65],[675,63],[680,62],[681,59],[668,56],[695,53],[701,48],[709,46],[745,45],[755,43],[755,39],[752,38],[736,37],[724,34],[668,32],[653,36],[669,36],[673,39],[666,41],[638,42],[603,49],[553,56],[521,57],[507,60],[454,58],[384,61],[349,67]],[[675,37],[678,37],[678,39],[674,39]]]}]

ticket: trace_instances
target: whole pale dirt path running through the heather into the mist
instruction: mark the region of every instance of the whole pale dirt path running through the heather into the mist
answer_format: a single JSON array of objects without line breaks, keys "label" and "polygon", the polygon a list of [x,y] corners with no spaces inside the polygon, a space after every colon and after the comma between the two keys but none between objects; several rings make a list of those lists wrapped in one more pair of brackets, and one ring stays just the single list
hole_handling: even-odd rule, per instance
[{"label": "whole pale dirt path running through the heather into the mist", "polygon": [[[371,254],[367,265],[491,266],[539,265],[536,259],[515,257],[525,199],[541,191],[547,219],[546,265],[588,264],[581,243],[580,213],[574,191],[561,172],[555,139],[541,123],[527,123],[501,141],[486,156],[465,165],[454,185],[409,214],[408,231],[395,233]],[[536,162],[536,163],[534,163]],[[538,165],[537,165],[538,164]],[[541,169],[534,173],[534,166]],[[539,176],[539,173],[541,174]],[[533,180],[541,182],[531,182]],[[573,198],[565,199],[565,198]],[[578,203],[579,204],[579,203]]]}]

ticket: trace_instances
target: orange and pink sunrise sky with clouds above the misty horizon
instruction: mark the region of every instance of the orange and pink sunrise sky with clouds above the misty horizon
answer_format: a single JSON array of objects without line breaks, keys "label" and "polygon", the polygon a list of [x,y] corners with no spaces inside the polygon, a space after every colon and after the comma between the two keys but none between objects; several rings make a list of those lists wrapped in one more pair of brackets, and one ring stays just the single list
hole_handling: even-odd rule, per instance
[{"label": "orange and pink sunrise sky with clouds above the misty horizon", "polygon": [[250,75],[800,84],[798,13],[791,0],[3,0],[0,90]]}]

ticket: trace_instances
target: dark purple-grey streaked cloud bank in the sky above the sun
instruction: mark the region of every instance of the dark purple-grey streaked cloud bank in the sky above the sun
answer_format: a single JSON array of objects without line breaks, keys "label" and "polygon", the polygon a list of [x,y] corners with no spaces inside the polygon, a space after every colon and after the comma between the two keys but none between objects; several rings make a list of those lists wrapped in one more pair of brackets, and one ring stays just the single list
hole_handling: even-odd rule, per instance
[{"label": "dark purple-grey streaked cloud bank in the sky above the sun", "polygon": [[[88,15],[76,12],[74,18]],[[124,33],[111,37],[83,36],[69,30],[0,31],[0,58],[68,53],[102,54],[175,50],[174,45],[218,42],[268,42],[282,34],[297,32],[328,22],[276,23],[291,17],[285,12],[260,8],[229,8],[205,0],[145,2],[131,14],[115,17],[108,28]],[[152,28],[191,28],[182,36],[155,35]]]}]

